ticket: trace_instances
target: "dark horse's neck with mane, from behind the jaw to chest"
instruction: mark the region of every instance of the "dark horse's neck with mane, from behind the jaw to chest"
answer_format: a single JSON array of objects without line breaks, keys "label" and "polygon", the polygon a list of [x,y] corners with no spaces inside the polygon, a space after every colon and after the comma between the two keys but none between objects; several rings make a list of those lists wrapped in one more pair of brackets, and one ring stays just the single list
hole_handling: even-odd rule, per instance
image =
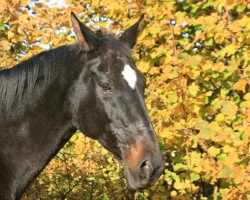
[{"label": "dark horse's neck with mane, from behind the jaw to chest", "polygon": [[[19,65],[0,73],[0,83],[3,83],[0,85],[0,147],[6,150],[5,155],[0,153],[0,160],[8,158],[6,166],[10,168],[6,173],[15,178],[13,184],[17,195],[76,131],[68,91],[81,72],[77,65],[80,61],[74,52],[69,49],[65,52],[67,54],[62,55],[65,59],[57,64],[54,59],[44,64],[42,61],[37,63],[37,59],[46,60],[51,56],[45,53],[43,57],[36,57],[34,62],[28,61],[29,69]],[[45,68],[48,67],[51,71],[46,74]],[[33,86],[29,85],[32,83]],[[9,104],[8,97],[12,98]]]}]

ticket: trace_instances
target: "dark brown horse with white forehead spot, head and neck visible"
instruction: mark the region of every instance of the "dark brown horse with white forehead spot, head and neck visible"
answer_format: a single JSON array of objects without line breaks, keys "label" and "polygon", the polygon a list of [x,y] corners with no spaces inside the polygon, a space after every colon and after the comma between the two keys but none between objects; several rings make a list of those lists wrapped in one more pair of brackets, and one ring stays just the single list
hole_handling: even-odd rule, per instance
[{"label": "dark brown horse with white forehead spot, head and neck visible", "polygon": [[159,179],[165,157],[131,56],[143,19],[115,36],[71,12],[76,43],[0,71],[0,199],[21,198],[77,130],[122,163],[131,189]]}]

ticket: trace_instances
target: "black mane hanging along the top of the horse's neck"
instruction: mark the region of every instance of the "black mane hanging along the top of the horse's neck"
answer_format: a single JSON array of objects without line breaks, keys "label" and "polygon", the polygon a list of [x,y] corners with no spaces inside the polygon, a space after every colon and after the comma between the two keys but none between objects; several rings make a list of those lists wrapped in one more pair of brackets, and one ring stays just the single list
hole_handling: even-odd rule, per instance
[{"label": "black mane hanging along the top of the horse's neck", "polygon": [[[41,80],[48,84],[65,63],[70,46],[44,51],[12,68],[0,71],[0,106],[10,108],[32,94]],[[45,87],[45,85],[43,85]]]}]

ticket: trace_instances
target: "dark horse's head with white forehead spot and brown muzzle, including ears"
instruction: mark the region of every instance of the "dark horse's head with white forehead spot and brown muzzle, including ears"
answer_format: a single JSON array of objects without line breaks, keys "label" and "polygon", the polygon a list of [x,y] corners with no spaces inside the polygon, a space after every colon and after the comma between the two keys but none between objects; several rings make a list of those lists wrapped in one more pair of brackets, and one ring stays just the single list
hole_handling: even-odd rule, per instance
[{"label": "dark horse's head with white forehead spot and brown muzzle, including ears", "polygon": [[74,13],[71,21],[85,58],[75,61],[83,66],[71,103],[76,127],[124,165],[132,189],[151,186],[165,158],[144,102],[146,79],[131,56],[143,16],[120,37],[92,31]]}]

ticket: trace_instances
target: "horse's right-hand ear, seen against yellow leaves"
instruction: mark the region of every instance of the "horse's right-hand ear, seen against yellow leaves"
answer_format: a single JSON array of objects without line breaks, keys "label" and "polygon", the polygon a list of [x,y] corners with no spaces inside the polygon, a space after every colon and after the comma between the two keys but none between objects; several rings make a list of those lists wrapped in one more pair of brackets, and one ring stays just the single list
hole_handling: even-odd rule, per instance
[{"label": "horse's right-hand ear, seen against yellow leaves", "polygon": [[143,25],[144,14],[131,27],[129,27],[120,37],[120,41],[125,42],[132,49],[136,43],[137,37]]}]

